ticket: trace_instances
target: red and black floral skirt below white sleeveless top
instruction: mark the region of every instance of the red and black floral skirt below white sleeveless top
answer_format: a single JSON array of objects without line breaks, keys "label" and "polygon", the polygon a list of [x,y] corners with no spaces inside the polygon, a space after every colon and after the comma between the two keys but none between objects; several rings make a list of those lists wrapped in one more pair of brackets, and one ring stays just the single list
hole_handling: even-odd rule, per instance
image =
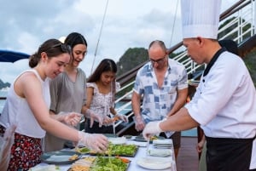
[{"label": "red and black floral skirt below white sleeveless top", "polygon": [[[3,136],[4,132],[5,128],[0,125],[0,136]],[[8,171],[28,170],[41,162],[41,155],[41,139],[15,133],[15,143],[11,148]]]}]

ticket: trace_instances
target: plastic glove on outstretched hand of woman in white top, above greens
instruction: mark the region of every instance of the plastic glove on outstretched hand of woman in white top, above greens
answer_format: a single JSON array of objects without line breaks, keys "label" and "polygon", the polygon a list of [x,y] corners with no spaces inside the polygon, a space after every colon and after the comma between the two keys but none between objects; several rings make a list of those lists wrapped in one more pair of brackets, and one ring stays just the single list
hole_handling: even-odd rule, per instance
[{"label": "plastic glove on outstretched hand of woman in white top, above greens", "polygon": [[103,134],[88,134],[79,131],[79,144],[92,151],[104,152],[108,150],[108,138]]}]

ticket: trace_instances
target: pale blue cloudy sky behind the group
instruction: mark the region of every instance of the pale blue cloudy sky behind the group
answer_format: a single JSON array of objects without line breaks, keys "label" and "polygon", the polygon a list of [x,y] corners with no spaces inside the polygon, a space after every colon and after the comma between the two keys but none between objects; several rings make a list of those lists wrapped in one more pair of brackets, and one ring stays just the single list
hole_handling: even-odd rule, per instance
[{"label": "pale blue cloudy sky behind the group", "polygon": [[[222,11],[237,1],[223,0]],[[179,0],[0,0],[0,3],[1,49],[32,54],[45,40],[78,31],[89,45],[88,54],[80,64],[87,77],[102,59],[118,61],[128,48],[148,48],[154,39],[163,40],[167,47],[181,41]],[[174,20],[176,25],[172,29]],[[12,83],[28,68],[28,60],[14,64],[0,62],[0,78]]]}]

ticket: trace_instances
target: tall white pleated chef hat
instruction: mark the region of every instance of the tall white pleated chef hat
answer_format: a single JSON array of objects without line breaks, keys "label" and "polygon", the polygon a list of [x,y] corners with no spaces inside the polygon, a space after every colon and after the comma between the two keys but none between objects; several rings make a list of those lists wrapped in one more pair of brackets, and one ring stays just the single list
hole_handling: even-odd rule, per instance
[{"label": "tall white pleated chef hat", "polygon": [[217,39],[221,0],[181,0],[183,38]]}]

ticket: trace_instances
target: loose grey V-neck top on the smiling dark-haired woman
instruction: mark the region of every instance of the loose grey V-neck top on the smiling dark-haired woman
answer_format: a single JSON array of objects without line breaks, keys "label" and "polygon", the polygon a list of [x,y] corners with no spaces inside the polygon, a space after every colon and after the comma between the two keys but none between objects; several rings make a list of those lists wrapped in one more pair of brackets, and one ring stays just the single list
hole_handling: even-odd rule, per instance
[{"label": "loose grey V-neck top on the smiling dark-haired woman", "polygon": [[[49,89],[51,96],[50,110],[55,111],[55,114],[60,111],[81,113],[82,106],[86,100],[86,76],[82,69],[78,68],[75,83],[63,71],[50,82]],[[76,128],[79,129],[79,125]],[[44,138],[44,151],[59,151],[65,143],[70,145],[68,142],[47,133]]]}]

